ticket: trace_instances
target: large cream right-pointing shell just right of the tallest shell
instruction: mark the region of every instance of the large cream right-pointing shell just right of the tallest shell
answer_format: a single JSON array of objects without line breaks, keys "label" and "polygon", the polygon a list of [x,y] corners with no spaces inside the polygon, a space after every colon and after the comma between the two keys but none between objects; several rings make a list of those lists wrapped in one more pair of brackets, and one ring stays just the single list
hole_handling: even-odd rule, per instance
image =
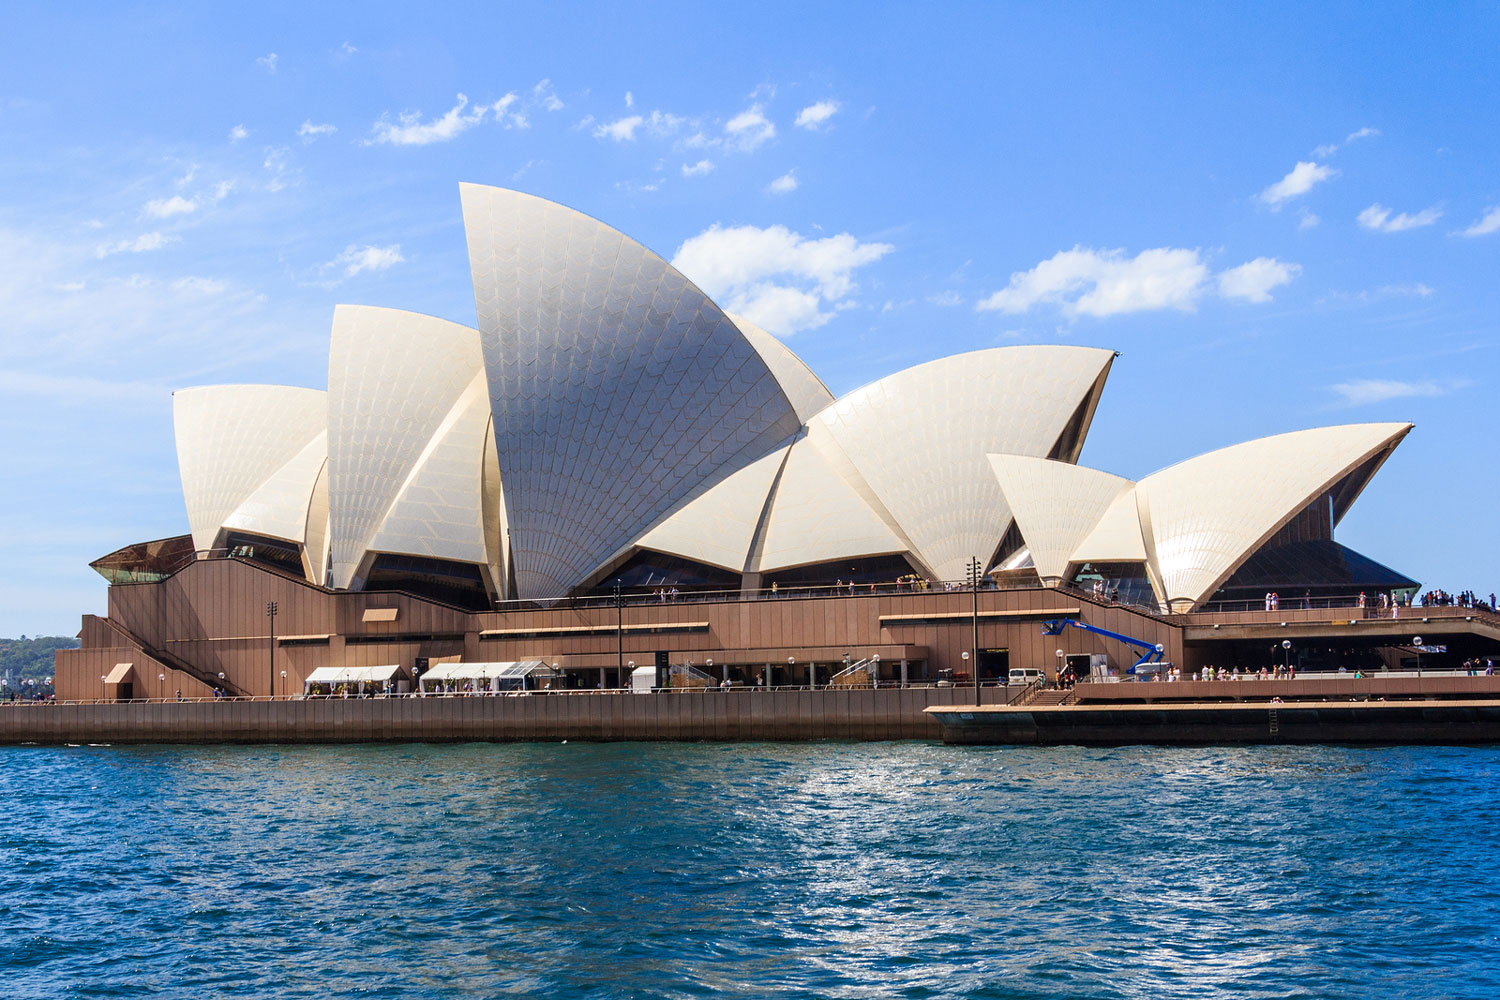
[{"label": "large cream right-pointing shell just right of the tallest shell", "polygon": [[[872,382],[812,423],[830,432],[915,555],[939,579],[963,579],[970,556],[988,564],[1011,520],[986,456],[1047,457],[1065,430],[1082,441],[1113,358],[1072,346],[958,354]],[[1077,447],[1064,444],[1062,457],[1076,459]]]}]

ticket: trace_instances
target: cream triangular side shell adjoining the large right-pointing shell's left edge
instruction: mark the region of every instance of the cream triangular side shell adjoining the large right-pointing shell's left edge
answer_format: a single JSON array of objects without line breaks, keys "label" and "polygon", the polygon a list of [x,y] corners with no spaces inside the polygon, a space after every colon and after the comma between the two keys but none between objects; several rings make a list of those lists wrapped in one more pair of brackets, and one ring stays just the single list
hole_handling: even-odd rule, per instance
[{"label": "cream triangular side shell adjoining the large right-pointing shell's left edge", "polygon": [[760,573],[909,549],[837,466],[818,427],[792,445],[760,544]]}]

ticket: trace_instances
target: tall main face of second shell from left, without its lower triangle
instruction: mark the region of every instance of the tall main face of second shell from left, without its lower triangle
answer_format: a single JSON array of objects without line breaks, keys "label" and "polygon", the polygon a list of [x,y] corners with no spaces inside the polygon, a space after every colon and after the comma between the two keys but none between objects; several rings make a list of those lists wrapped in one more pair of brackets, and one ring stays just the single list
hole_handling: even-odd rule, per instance
[{"label": "tall main face of second shell from left, without its lower triangle", "polygon": [[[482,372],[478,333],[468,327],[398,309],[334,310],[328,348],[333,586],[350,586],[392,504]],[[480,448],[474,456],[476,474],[482,454]],[[452,541],[452,526],[441,529]],[[392,537],[417,547],[414,534],[408,520]]]}]

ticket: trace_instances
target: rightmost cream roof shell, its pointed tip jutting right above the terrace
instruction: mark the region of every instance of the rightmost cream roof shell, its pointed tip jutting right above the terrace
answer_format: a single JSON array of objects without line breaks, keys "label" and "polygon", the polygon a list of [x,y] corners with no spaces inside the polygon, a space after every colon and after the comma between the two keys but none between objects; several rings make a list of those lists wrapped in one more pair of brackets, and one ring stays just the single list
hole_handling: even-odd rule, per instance
[{"label": "rightmost cream roof shell, its pointed tip jutting right above the terrace", "polygon": [[[1210,597],[1323,493],[1358,495],[1408,430],[1404,423],[1296,430],[1209,451],[1142,480],[1136,492],[1148,549],[1172,609]],[[1346,483],[1350,477],[1362,481]]]}]

